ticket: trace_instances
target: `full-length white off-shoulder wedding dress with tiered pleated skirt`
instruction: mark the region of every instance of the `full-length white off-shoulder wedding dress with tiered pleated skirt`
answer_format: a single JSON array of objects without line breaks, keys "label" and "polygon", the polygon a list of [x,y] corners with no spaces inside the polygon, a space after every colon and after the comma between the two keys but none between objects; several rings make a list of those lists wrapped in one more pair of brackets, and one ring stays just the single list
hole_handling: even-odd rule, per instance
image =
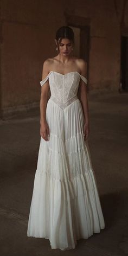
[{"label": "full-length white off-shoulder wedding dress with tiered pleated skirt", "polygon": [[50,71],[41,86],[48,79],[50,136],[40,140],[27,236],[47,238],[52,249],[66,250],[99,233],[105,222],[77,96],[80,79],[85,86],[87,79],[76,71]]}]

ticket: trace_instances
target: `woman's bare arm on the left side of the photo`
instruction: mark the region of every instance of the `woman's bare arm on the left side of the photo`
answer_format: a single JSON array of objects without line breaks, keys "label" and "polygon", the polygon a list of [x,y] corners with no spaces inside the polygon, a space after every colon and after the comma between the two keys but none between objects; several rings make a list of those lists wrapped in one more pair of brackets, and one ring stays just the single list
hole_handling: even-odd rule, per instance
[{"label": "woman's bare arm on the left side of the photo", "polygon": [[[48,60],[44,61],[42,69],[42,80],[46,78],[49,73],[48,70]],[[49,93],[49,81],[41,87],[41,98],[40,98],[40,135],[44,140],[48,140],[49,127],[46,121],[46,107],[48,102],[48,93]]]}]

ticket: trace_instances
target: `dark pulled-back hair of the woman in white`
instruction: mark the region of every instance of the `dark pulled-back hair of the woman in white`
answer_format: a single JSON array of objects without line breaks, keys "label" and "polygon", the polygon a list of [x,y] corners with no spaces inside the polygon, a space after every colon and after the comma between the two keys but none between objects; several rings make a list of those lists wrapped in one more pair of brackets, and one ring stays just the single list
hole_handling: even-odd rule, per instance
[{"label": "dark pulled-back hair of the woman in white", "polygon": [[62,26],[57,30],[55,39],[57,41],[56,43],[57,43],[58,50],[59,50],[59,44],[61,40],[64,38],[69,39],[74,44],[74,32],[72,28],[68,26]]}]

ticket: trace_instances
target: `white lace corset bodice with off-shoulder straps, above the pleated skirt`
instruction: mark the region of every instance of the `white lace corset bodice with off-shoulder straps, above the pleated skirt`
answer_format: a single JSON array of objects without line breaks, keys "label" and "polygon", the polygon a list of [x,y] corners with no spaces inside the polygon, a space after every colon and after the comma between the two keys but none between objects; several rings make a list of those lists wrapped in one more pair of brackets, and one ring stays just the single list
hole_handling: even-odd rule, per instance
[{"label": "white lace corset bodice with off-shoulder straps, above the pleated skirt", "polygon": [[77,71],[69,72],[65,75],[50,71],[46,78],[40,81],[40,84],[43,86],[49,79],[50,99],[64,109],[74,100],[78,99],[77,93],[80,78],[87,84],[87,79]]}]

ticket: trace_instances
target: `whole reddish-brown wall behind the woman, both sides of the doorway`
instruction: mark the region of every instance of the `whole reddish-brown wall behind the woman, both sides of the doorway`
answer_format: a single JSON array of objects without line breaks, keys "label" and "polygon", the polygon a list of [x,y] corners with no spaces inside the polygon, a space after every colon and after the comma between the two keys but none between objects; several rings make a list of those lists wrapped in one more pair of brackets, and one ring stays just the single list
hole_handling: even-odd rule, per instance
[{"label": "whole reddish-brown wall behind the woman, both sides of the doorway", "polygon": [[127,2],[1,0],[2,115],[39,106],[43,61],[55,56],[56,29],[66,24],[66,15],[85,17],[90,21],[90,91],[118,91],[120,36],[123,33],[128,36]]}]

